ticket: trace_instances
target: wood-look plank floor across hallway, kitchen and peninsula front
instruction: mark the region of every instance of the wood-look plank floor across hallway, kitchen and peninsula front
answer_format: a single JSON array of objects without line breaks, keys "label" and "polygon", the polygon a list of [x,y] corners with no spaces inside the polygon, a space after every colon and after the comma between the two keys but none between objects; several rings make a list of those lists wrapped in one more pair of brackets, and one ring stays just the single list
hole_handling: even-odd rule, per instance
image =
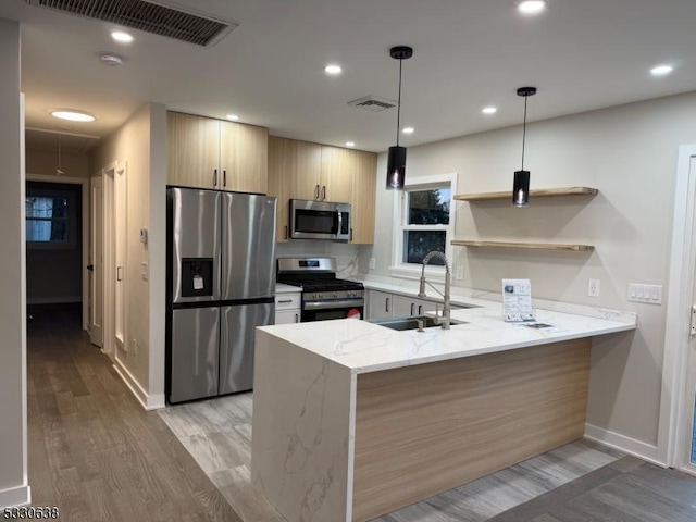
[{"label": "wood-look plank floor across hallway, kitchen and peninsula front", "polygon": [[[284,522],[250,485],[251,394],[145,412],[78,311],[34,316],[34,506],[67,521]],[[696,522],[696,477],[579,440],[377,520]]]}]

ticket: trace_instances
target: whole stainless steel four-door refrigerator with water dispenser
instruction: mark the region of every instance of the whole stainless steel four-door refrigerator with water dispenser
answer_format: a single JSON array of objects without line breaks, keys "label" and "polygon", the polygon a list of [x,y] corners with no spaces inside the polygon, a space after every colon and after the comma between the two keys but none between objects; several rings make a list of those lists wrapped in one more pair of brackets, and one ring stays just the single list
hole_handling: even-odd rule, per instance
[{"label": "whole stainless steel four-door refrigerator with water dispenser", "polygon": [[273,197],[167,189],[166,395],[253,387],[257,326],[273,324]]}]

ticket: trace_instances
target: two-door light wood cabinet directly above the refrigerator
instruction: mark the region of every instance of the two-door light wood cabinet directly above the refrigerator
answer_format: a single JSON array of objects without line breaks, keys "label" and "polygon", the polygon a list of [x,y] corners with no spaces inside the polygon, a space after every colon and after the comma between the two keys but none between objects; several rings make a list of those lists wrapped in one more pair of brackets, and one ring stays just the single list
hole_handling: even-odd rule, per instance
[{"label": "two-door light wood cabinet directly above the refrigerator", "polygon": [[268,136],[263,127],[167,113],[167,184],[265,194]]}]

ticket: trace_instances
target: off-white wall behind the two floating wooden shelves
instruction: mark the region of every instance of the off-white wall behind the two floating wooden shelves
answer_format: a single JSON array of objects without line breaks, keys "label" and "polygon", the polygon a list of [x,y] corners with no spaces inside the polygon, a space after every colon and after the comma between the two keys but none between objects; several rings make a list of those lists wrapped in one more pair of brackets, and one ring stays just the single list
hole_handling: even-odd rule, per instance
[{"label": "off-white wall behind the two floating wooden shelves", "polygon": [[[532,100],[544,102],[543,94]],[[595,339],[587,422],[620,439],[657,444],[664,306],[626,300],[629,282],[664,285],[669,270],[678,147],[696,142],[696,94],[632,103],[527,125],[525,167],[532,188],[584,185],[594,198],[459,202],[457,238],[581,243],[592,253],[455,248],[456,285],[499,291],[502,277],[529,277],[534,297],[638,313],[633,334]],[[459,172],[458,192],[511,190],[520,169],[521,127],[411,147],[407,176]],[[388,275],[393,195],[380,156],[373,274]],[[601,296],[587,297],[587,279]],[[664,301],[666,302],[666,301]],[[627,437],[627,438],[625,438]]]}]

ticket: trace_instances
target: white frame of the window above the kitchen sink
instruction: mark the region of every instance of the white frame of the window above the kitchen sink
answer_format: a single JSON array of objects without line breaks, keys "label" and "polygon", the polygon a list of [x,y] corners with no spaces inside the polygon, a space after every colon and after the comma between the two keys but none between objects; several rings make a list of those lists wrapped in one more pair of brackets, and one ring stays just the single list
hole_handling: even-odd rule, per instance
[{"label": "white frame of the window above the kitchen sink", "polygon": [[[418,279],[421,276],[422,265],[403,262],[403,232],[405,231],[445,231],[445,256],[452,263],[451,240],[455,236],[457,223],[457,207],[455,194],[457,191],[458,173],[439,174],[433,176],[420,176],[407,178],[403,190],[394,191],[394,241],[391,246],[391,266],[389,274],[393,277],[405,279]],[[426,190],[428,188],[446,188],[449,185],[449,224],[448,225],[409,225],[408,223],[408,192]],[[427,265],[425,273],[434,282],[444,283],[445,266]]]}]

